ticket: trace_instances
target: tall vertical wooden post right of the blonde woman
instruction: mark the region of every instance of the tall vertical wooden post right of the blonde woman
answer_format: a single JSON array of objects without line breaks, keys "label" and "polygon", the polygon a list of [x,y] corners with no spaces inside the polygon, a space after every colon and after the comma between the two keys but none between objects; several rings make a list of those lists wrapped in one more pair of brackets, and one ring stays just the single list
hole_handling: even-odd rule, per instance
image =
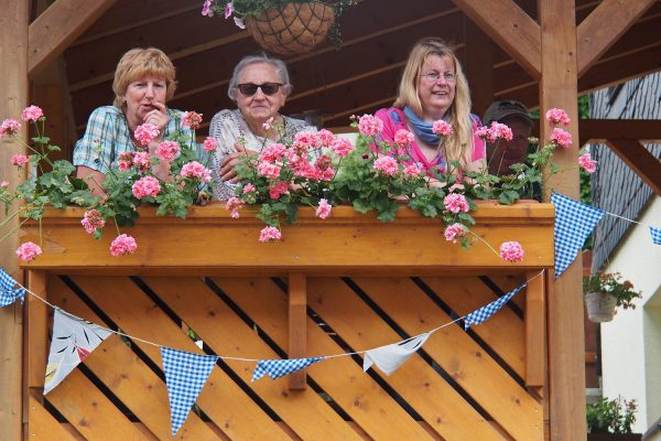
[{"label": "tall vertical wooden post right of the blonde woman", "polygon": [[[576,11],[574,0],[539,0],[541,19],[542,79],[540,112],[543,118],[553,107],[563,108],[572,118],[566,129],[578,143]],[[540,123],[542,141],[550,127]],[[553,157],[562,175],[548,187],[566,196],[578,197],[578,148],[557,149]],[[548,196],[548,195],[546,195]],[[585,439],[585,342],[583,338],[583,295],[581,255],[549,292],[549,368],[551,440]],[[553,276],[551,276],[553,277]]]}]

